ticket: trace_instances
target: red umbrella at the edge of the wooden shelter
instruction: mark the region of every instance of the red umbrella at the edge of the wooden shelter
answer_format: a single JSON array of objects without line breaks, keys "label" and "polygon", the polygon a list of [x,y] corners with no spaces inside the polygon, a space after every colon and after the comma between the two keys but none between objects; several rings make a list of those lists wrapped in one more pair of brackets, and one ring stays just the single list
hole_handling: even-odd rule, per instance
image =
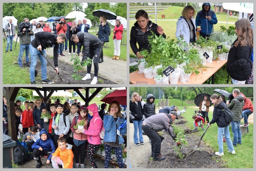
[{"label": "red umbrella at the edge of the wooden shelter", "polygon": [[100,101],[110,104],[112,101],[119,102],[120,105],[126,105],[126,90],[114,90],[112,93],[108,93],[105,97],[103,97]]}]

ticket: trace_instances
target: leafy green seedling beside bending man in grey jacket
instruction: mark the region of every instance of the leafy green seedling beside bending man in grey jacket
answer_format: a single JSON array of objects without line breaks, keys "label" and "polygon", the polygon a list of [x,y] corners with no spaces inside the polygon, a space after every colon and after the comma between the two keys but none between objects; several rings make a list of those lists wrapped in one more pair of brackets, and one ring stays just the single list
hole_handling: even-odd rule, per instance
[{"label": "leafy green seedling beside bending man in grey jacket", "polygon": [[[179,126],[177,126],[177,125],[175,125],[175,124],[172,124],[172,128],[173,128],[173,132],[174,132],[174,134],[176,134],[176,138],[175,138],[175,142],[176,143],[178,143],[178,142],[180,142],[182,145],[187,145],[188,143],[187,143],[187,141],[185,140],[185,137],[186,137],[186,135],[184,134],[185,132],[184,132],[184,130],[181,128],[181,127],[179,127]],[[182,148],[182,146],[180,146],[180,147],[174,147],[173,149],[174,149],[174,151],[175,151],[175,153],[176,153],[176,155],[177,156],[179,156],[179,158],[184,158],[185,156],[184,156],[184,154],[181,152],[181,148]]]}]

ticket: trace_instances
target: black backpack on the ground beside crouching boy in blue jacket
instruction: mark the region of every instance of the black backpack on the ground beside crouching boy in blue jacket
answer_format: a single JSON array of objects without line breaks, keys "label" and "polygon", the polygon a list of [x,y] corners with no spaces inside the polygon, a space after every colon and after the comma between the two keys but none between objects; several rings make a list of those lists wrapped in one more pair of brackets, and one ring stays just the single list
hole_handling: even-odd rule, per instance
[{"label": "black backpack on the ground beside crouching boy in blue jacket", "polygon": [[23,164],[33,159],[21,144],[14,149],[14,164]]}]

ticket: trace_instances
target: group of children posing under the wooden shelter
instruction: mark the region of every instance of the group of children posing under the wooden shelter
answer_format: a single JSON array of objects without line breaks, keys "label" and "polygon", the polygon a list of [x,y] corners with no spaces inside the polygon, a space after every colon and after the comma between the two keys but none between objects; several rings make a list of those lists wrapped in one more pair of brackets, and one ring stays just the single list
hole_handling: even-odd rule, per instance
[{"label": "group of children posing under the wooden shelter", "polygon": [[[47,157],[46,164],[52,163],[53,168],[73,168],[73,157],[75,156],[75,168],[79,165],[81,168],[84,167],[84,160],[87,158],[92,164],[92,168],[97,168],[97,164],[94,158],[94,154],[97,151],[99,145],[101,144],[101,139],[99,136],[100,130],[103,127],[103,120],[100,118],[98,113],[98,106],[96,104],[89,105],[88,107],[82,105],[77,111],[77,105],[72,104],[70,107],[70,114],[64,114],[64,108],[62,104],[50,104],[50,119],[48,121],[41,119],[41,114],[46,114],[47,108],[41,105],[41,99],[35,100],[35,108],[33,110],[29,109],[29,102],[24,103],[25,110],[22,111],[21,108],[17,108],[15,111],[17,117],[17,123],[21,115],[21,123],[23,125],[23,142],[27,142],[27,149],[33,152],[34,159],[37,161],[36,168],[42,166],[41,157]],[[114,102],[112,106],[117,106],[117,109],[111,110],[111,105],[109,105],[109,111],[114,111],[113,120],[105,122],[113,122],[116,125],[116,134],[111,134],[114,138],[109,139],[109,136],[105,143],[108,144],[108,149],[114,149],[116,153],[121,151],[121,143],[124,142],[122,135],[126,134],[126,125],[122,128],[120,125],[124,122],[124,117],[121,115],[121,108],[118,102]],[[119,106],[119,107],[118,107]],[[110,115],[113,112],[110,112]],[[39,115],[40,114],[40,115]],[[89,115],[90,116],[89,116]],[[109,114],[106,114],[109,115]],[[116,117],[115,117],[116,116]],[[104,116],[105,118],[105,116]],[[118,118],[118,120],[117,120]],[[79,122],[84,120],[84,128],[78,129],[77,125]],[[19,122],[20,123],[20,122]],[[18,128],[18,126],[17,126]],[[104,124],[105,128],[105,124]],[[119,129],[119,134],[117,130]],[[40,131],[38,131],[40,130]],[[105,128],[105,135],[108,135],[107,129]],[[113,130],[111,129],[113,132]],[[116,138],[119,137],[119,138]],[[105,140],[104,137],[104,140]],[[119,142],[116,142],[116,140]],[[110,141],[109,141],[110,140]],[[74,145],[74,154],[72,151],[72,144]],[[111,146],[112,145],[112,146]],[[118,151],[119,150],[119,151]],[[106,153],[107,156],[107,153]],[[122,155],[121,155],[122,156]],[[80,158],[80,164],[79,164]],[[124,168],[122,157],[117,157],[118,164],[120,168]],[[110,162],[110,157],[105,160],[105,168],[108,168]]]}]

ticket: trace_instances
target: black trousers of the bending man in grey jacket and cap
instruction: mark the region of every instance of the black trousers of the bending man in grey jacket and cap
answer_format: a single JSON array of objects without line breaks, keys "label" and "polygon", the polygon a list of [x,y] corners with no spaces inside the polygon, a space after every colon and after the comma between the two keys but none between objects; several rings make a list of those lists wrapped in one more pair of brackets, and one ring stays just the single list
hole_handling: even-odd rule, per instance
[{"label": "black trousers of the bending man in grey jacket and cap", "polygon": [[153,158],[157,157],[161,152],[161,139],[159,135],[148,125],[141,125],[141,128],[151,140],[151,152],[153,153]]}]

